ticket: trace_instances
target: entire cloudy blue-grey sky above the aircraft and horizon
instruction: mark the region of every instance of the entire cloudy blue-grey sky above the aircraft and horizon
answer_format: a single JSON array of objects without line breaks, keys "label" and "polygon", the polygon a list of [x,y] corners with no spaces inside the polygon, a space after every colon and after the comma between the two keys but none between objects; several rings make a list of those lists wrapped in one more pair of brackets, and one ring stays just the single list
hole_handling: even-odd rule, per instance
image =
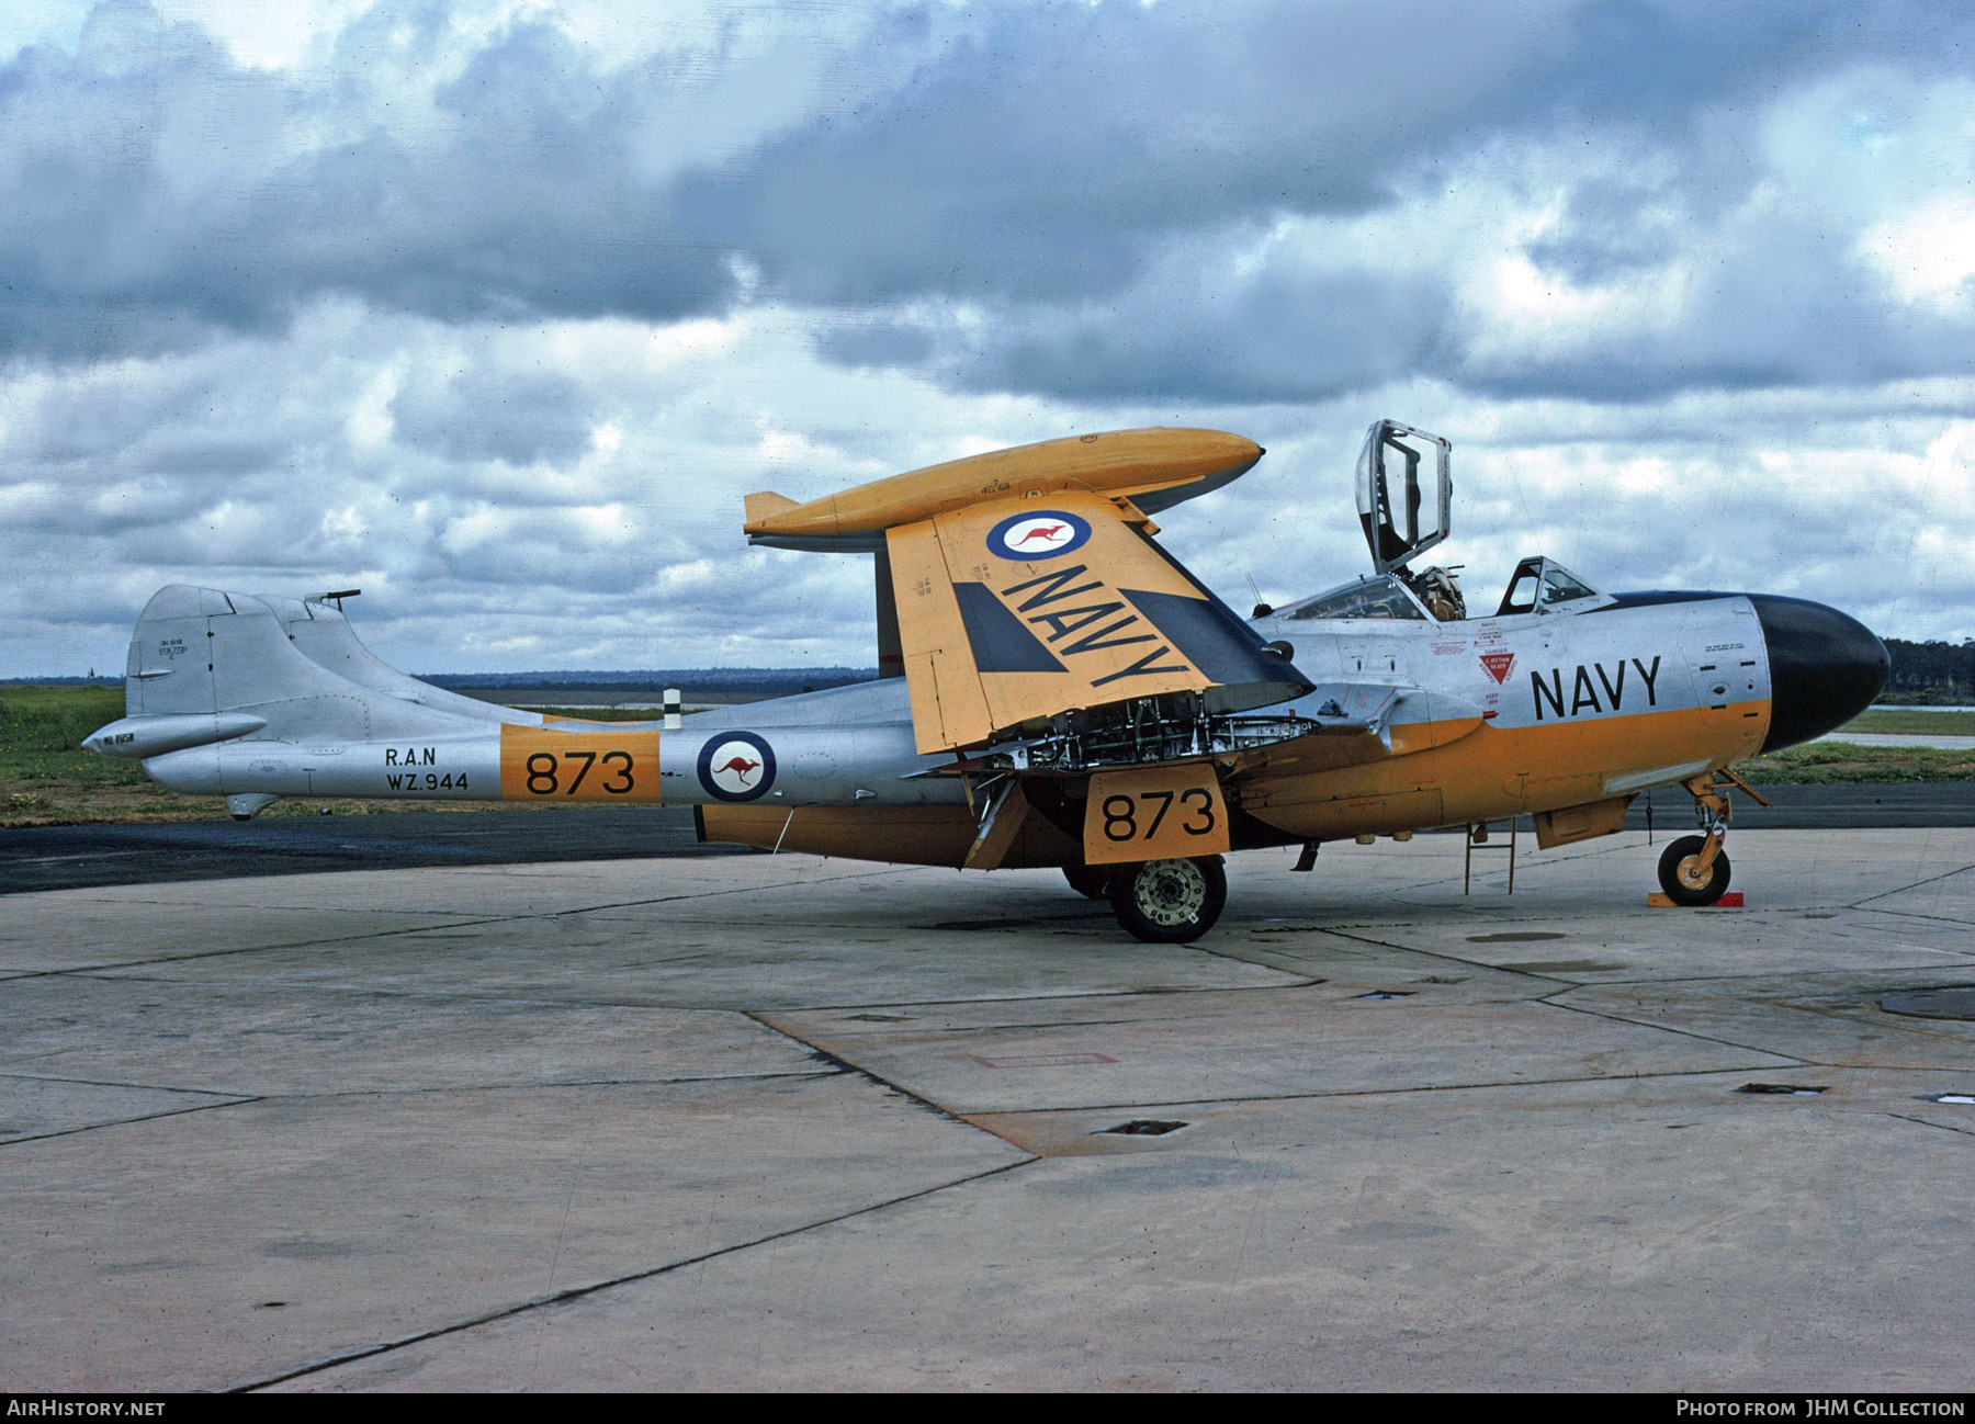
[{"label": "entire cloudy blue-grey sky above the aircraft and horizon", "polygon": [[1268,458],[1230,602],[1446,435],[1469,594],[1975,636],[1975,8],[8,0],[0,677],[361,587],[415,672],[871,664],[806,500],[1068,433]]}]

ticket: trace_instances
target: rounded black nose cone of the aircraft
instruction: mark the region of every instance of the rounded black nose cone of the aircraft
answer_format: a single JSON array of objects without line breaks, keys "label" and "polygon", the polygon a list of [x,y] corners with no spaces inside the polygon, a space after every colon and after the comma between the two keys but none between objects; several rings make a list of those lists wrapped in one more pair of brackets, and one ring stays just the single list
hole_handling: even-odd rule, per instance
[{"label": "rounded black nose cone of the aircraft", "polygon": [[1795,747],[1843,727],[1886,685],[1892,660],[1872,630],[1809,598],[1748,596],[1770,644],[1770,737]]}]

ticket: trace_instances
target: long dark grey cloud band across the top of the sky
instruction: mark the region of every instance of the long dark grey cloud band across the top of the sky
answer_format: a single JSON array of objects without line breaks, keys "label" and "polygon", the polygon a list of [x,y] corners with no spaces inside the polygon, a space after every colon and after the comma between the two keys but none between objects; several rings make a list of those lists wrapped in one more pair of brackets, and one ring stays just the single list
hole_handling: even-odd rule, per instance
[{"label": "long dark grey cloud band across the top of the sky", "polygon": [[[1367,213],[1505,142],[1651,134],[1691,190],[1748,188],[1730,148],[1764,95],[1874,53],[1932,79],[1967,38],[1884,4],[843,14],[687,26],[624,61],[555,12],[381,0],[271,69],[105,0],[73,47],[0,67],[0,350],[168,350],[324,294],[660,322],[725,310],[737,257],[831,306],[1076,302],[1175,239]],[[1661,198],[1578,194],[1540,257],[1639,261]]]}]

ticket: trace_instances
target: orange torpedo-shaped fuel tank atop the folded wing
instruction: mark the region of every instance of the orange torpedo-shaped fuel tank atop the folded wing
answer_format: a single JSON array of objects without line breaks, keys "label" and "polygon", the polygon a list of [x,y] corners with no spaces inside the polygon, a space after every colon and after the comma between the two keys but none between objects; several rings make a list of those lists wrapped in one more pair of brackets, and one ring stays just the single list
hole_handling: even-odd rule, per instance
[{"label": "orange torpedo-shaped fuel tank atop the folded wing", "polygon": [[808,504],[750,494],[743,529],[749,543],[776,549],[873,551],[885,547],[885,529],[970,504],[1045,498],[1065,490],[1132,500],[1142,512],[1157,514],[1219,490],[1260,458],[1260,444],[1226,431],[1155,427],[1072,435],[928,464]]}]

